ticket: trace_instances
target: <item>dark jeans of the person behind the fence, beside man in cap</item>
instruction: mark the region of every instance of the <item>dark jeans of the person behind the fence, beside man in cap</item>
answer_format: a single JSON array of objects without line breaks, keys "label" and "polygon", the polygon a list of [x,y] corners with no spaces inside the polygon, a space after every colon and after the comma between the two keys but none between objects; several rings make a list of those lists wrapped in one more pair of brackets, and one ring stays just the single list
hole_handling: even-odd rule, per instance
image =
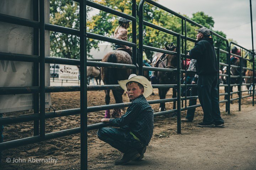
[{"label": "dark jeans of the person behind the fence, beside man in cap", "polygon": [[[194,77],[187,77],[187,79],[186,79],[187,84],[191,84],[193,79],[194,79]],[[183,84],[185,84],[185,82]],[[197,87],[191,87],[190,96],[197,96]],[[196,102],[197,102],[197,99],[191,99],[191,100],[189,100],[188,106],[196,105]],[[192,121],[194,119],[195,111],[196,111],[196,108],[188,109],[186,119],[188,119],[189,121]]]}]

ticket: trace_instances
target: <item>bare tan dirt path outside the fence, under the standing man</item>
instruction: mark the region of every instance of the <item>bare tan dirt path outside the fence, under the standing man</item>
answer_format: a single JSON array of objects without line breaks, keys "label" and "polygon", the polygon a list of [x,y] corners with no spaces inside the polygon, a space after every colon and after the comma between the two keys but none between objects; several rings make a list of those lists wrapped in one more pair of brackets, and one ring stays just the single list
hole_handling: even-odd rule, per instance
[{"label": "bare tan dirt path outside the fence, under the standing man", "polygon": [[198,128],[153,142],[142,161],[113,170],[255,170],[256,111],[245,110],[231,115],[225,128]]}]

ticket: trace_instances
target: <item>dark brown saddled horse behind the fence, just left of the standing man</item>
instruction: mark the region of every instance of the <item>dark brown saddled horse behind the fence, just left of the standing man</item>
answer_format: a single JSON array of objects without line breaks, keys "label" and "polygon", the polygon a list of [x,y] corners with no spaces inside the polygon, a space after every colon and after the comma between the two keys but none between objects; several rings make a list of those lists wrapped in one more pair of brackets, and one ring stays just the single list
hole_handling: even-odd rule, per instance
[{"label": "dark brown saddled horse behind the fence, just left of the standing man", "polygon": [[[172,44],[170,46],[165,45],[165,50],[176,51],[176,47]],[[156,56],[161,56],[158,64],[155,64],[154,67],[159,68],[176,68],[177,66],[177,57],[175,55],[156,53]],[[174,72],[158,72],[157,74],[158,84],[176,84],[177,78],[176,73]],[[165,99],[167,92],[170,88],[161,88],[158,89],[158,94],[160,99]],[[172,98],[177,97],[177,90],[172,88]],[[176,109],[176,102],[174,102],[173,109]],[[165,111],[165,103],[160,103],[159,111]]]}]

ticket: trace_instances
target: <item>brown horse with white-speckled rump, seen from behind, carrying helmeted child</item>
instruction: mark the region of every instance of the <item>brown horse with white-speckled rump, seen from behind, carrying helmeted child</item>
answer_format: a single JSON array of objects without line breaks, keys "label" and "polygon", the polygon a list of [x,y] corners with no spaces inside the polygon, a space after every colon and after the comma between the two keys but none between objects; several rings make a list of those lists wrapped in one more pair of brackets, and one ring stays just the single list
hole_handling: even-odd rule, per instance
[{"label": "brown horse with white-speckled rump, seen from behind, carrying helmeted child", "polygon": [[[102,62],[132,64],[131,56],[122,50],[112,50],[102,58]],[[101,78],[105,85],[118,84],[118,80],[126,80],[131,74],[131,69],[101,67]],[[123,103],[124,90],[112,90],[116,103]],[[105,102],[110,103],[110,90],[105,90]],[[106,110],[105,118],[110,118],[110,110]]]}]

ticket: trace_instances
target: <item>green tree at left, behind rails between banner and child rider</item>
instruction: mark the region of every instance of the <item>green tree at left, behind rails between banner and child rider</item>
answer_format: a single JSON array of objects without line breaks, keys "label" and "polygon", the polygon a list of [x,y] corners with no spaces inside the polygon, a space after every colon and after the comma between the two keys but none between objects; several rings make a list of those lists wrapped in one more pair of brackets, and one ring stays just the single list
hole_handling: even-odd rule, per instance
[{"label": "green tree at left, behind rails between banner and child rider", "polygon": [[[87,12],[90,10],[87,7]],[[50,24],[79,29],[79,3],[72,0],[50,0]],[[51,56],[79,59],[79,40],[76,35],[50,32]]]}]

